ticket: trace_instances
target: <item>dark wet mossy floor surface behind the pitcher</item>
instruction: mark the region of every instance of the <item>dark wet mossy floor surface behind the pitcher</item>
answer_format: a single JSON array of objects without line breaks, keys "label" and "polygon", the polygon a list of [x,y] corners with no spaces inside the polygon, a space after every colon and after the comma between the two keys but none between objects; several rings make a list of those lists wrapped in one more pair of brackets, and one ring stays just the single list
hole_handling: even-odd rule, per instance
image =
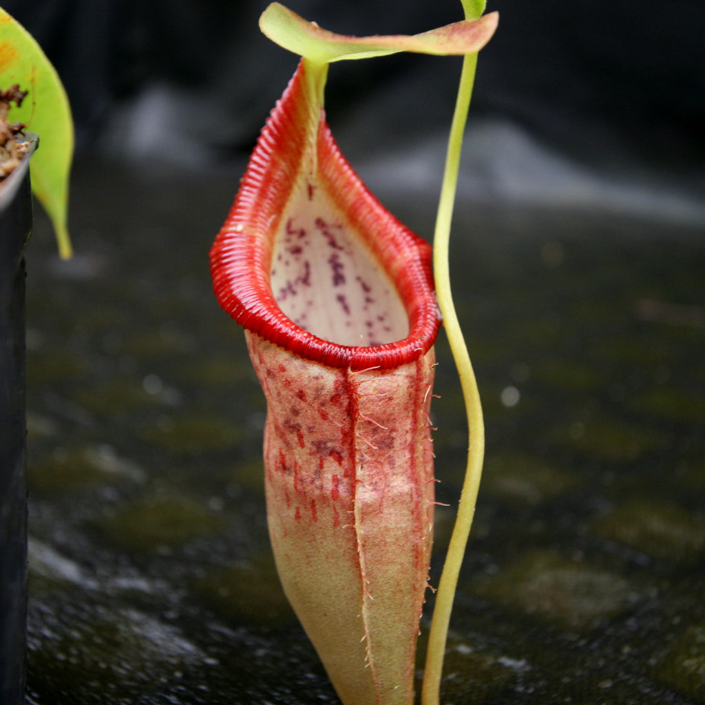
[{"label": "dark wet mossy floor surface behind the pitcher", "polygon": [[[68,263],[37,212],[32,704],[336,703],[276,578],[264,398],[210,286],[238,178],[79,164]],[[429,232],[432,199],[389,206]],[[705,703],[703,235],[459,205],[487,457],[444,705]],[[442,335],[438,353],[436,474],[454,505],[465,422]],[[434,583],[452,520],[439,507]]]}]

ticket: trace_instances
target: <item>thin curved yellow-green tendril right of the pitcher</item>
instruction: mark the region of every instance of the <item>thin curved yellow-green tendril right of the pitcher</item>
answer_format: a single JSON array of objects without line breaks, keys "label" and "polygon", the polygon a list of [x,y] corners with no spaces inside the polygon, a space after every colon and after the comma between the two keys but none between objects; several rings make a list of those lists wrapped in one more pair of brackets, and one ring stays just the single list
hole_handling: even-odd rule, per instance
[{"label": "thin curved yellow-green tendril right of the pitcher", "polygon": [[[466,16],[474,11],[482,12],[484,2],[462,0]],[[448,243],[450,239],[450,222],[453,217],[453,202],[458,185],[458,171],[460,168],[460,151],[462,149],[462,135],[467,121],[467,111],[470,107],[470,97],[474,85],[477,54],[468,54],[463,59],[462,73],[458,99],[453,114],[453,124],[450,128],[446,168],[443,173],[443,185],[439,200],[436,230],[434,233],[434,279],[436,281],[436,296],[439,308],[443,315],[443,327],[446,329],[450,351],[455,360],[455,366],[460,376],[463,398],[469,432],[469,445],[467,453],[467,467],[462,485],[458,517],[455,520],[453,534],[450,538],[446,562],[436,593],[433,619],[429,632],[426,668],[424,669],[424,682],[422,685],[422,705],[438,705],[441,674],[443,671],[443,657],[446,650],[448,637],[448,624],[450,613],[453,609],[455,588],[458,584],[458,575],[462,558],[465,554],[467,538],[470,535],[472,518],[474,516],[477,491],[482,474],[484,460],[484,419],[482,417],[482,404],[480,403],[477,381],[475,379],[470,355],[467,352],[465,339],[462,336],[458,317],[453,306],[453,296],[450,292],[450,274],[448,267]]]}]

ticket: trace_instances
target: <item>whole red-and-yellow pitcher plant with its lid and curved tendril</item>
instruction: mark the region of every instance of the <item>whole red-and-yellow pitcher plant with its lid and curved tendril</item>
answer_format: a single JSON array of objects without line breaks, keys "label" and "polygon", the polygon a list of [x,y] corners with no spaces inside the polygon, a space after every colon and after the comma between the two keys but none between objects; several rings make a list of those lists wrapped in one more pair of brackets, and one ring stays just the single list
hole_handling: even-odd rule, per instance
[{"label": "whole red-and-yellow pitcher plant with its lid and curved tendril", "polygon": [[[245,328],[266,396],[264,477],[278,574],[344,705],[414,699],[434,524],[433,345],[441,319],[453,326],[455,317],[447,286],[436,299],[431,247],[376,200],[338,149],[324,87],[331,61],[398,51],[466,56],[435,235],[447,241],[462,97],[497,24],[496,13],[465,10],[465,20],[421,35],[349,37],[270,5],[262,31],[302,58],[211,250],[216,296]],[[450,335],[457,343],[459,333]],[[424,705],[438,701],[482,466],[472,368],[465,386],[476,421],[472,472],[437,596]]]}]

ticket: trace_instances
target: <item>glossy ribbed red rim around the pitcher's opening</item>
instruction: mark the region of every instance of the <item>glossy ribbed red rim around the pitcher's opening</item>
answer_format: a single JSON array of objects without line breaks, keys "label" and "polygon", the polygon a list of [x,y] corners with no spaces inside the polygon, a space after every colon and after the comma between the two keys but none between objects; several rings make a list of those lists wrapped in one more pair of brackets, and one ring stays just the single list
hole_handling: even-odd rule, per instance
[{"label": "glossy ribbed red rim around the pitcher's opening", "polygon": [[[324,190],[391,280],[407,314],[406,337],[341,345],[308,332],[282,311],[271,286],[274,240],[302,188],[309,199],[314,190]],[[211,271],[221,306],[238,324],[331,367],[391,369],[427,353],[438,333],[431,248],[376,200],[343,157],[312,95],[305,61],[262,130],[212,247]]]}]

